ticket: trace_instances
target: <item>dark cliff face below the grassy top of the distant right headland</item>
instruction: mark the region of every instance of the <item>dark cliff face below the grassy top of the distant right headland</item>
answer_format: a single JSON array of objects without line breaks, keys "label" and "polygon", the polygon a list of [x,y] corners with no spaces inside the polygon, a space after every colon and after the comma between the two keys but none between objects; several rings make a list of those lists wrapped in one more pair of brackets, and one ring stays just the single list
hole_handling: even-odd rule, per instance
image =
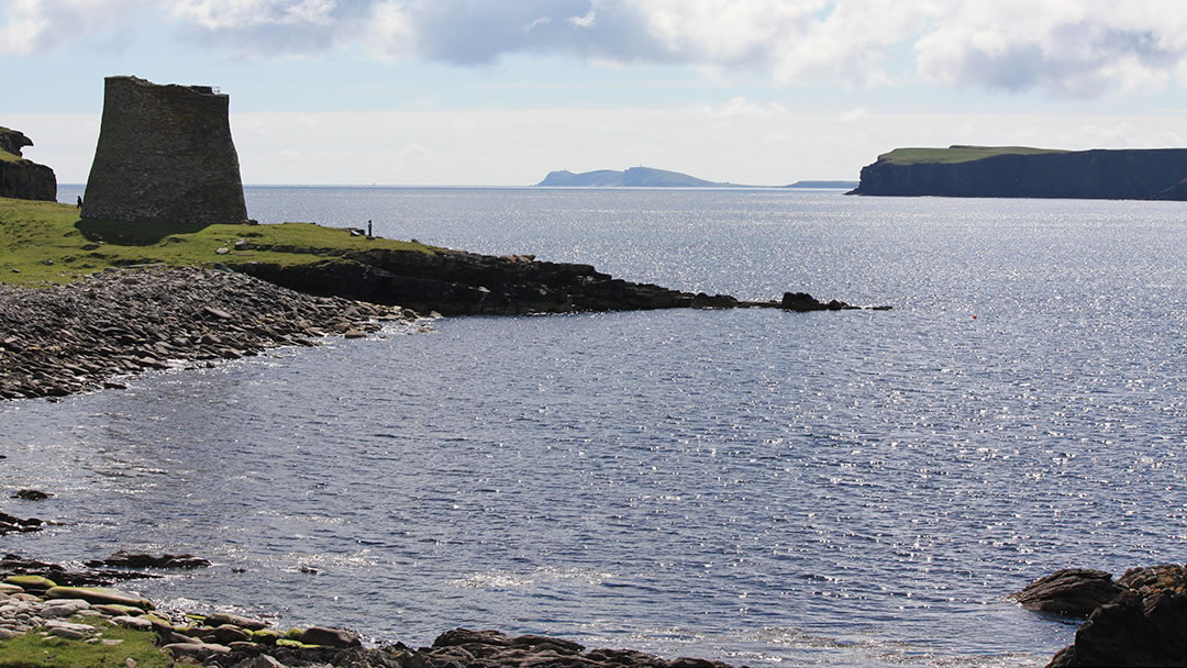
[{"label": "dark cliff face below the grassy top of the distant right headland", "polygon": [[852,193],[1187,201],[1187,148],[1001,153],[906,164],[891,155],[863,167]]}]

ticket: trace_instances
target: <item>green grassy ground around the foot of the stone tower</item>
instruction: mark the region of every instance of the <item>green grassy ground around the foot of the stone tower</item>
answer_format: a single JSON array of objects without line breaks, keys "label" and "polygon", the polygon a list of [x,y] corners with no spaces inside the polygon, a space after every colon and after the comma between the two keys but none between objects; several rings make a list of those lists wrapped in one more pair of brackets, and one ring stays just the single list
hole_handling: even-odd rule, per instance
[{"label": "green grassy ground around the foot of the stone tower", "polygon": [[[235,249],[236,241],[254,248]],[[218,249],[226,248],[223,254]],[[81,221],[69,204],[0,197],[0,282],[71,282],[107,267],[242,262],[301,265],[328,256],[387,248],[432,253],[421,243],[368,240],[313,223],[192,225]]]}]

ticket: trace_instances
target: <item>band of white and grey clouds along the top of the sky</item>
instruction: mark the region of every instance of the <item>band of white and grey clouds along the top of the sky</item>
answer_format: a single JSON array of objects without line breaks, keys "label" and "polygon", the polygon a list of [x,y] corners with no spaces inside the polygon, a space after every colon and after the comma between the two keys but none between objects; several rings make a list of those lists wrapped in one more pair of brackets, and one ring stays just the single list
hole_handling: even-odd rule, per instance
[{"label": "band of white and grey clouds along the top of the sky", "polygon": [[[4,1],[4,0],[0,0]],[[0,5],[2,6],[2,5]],[[744,70],[772,81],[941,85],[1092,96],[1182,85],[1181,0],[7,0],[0,53],[126,26],[224,55],[372,49],[484,64],[513,53]]]}]

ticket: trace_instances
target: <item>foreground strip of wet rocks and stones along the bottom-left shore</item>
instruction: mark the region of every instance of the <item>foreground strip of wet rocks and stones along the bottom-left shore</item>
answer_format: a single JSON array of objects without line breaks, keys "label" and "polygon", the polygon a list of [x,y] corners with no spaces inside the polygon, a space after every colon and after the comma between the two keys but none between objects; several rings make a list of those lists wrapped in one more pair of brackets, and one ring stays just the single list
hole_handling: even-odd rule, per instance
[{"label": "foreground strip of wet rocks and stones along the bottom-left shore", "polygon": [[[161,564],[172,555],[134,556]],[[717,661],[666,660],[627,649],[588,650],[561,638],[491,630],[453,629],[419,649],[402,643],[363,647],[358,635],[345,629],[280,630],[239,615],[164,612],[135,592],[95,586],[121,573],[129,574],[69,570],[6,555],[0,560],[0,643],[36,634],[101,648],[114,654],[116,663],[134,667],[135,660],[119,659],[123,641],[104,637],[107,629],[120,626],[152,634],[157,647],[178,664],[220,668],[729,668]],[[4,648],[0,644],[0,659]]]}]

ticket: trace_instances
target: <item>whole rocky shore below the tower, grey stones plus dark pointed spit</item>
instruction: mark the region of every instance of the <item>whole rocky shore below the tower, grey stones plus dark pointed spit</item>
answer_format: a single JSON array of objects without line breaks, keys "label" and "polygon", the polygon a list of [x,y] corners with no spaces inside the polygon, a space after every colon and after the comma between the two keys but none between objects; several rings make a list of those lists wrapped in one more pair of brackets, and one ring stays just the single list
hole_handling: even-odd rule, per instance
[{"label": "whole rocky shore below the tower, grey stones plus dark pointed spit", "polygon": [[47,288],[0,284],[0,400],[119,389],[119,377],[147,369],[316,345],[325,335],[361,338],[388,322],[424,329],[407,305],[447,314],[858,308],[802,292],[775,301],[692,294],[526,257],[386,252],[368,259],[239,271],[129,267]]}]

